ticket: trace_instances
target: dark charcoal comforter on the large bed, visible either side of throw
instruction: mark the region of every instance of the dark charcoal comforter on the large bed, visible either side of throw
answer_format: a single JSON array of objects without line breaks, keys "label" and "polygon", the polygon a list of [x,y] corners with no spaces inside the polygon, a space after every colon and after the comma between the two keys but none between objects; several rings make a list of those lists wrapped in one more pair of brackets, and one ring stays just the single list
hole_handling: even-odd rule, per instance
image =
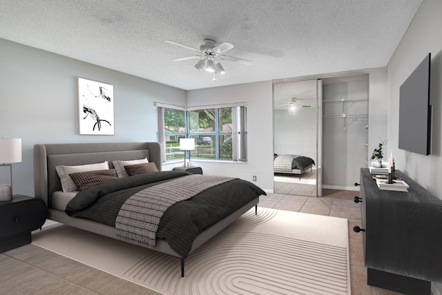
[{"label": "dark charcoal comforter on the large bed, visible either side of throw", "polygon": [[[118,211],[127,198],[146,187],[186,175],[189,173],[184,171],[162,171],[106,182],[78,193],[66,206],[66,213],[115,227]],[[240,179],[206,189],[167,209],[156,237],[164,238],[177,254],[186,258],[201,231],[260,195],[265,195],[265,191]]]}]

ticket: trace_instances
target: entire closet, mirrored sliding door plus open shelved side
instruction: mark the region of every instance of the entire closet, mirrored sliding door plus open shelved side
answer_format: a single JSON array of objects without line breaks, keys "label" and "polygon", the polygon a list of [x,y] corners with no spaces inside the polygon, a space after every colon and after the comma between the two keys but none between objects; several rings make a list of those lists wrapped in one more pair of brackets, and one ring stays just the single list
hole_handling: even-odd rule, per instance
[{"label": "entire closet, mirrored sliding door plus open shelved side", "polygon": [[355,189],[359,169],[370,162],[368,98],[368,73],[273,81],[274,153],[316,162],[300,180],[281,183],[287,175],[275,173],[275,193],[318,197],[323,188]]}]

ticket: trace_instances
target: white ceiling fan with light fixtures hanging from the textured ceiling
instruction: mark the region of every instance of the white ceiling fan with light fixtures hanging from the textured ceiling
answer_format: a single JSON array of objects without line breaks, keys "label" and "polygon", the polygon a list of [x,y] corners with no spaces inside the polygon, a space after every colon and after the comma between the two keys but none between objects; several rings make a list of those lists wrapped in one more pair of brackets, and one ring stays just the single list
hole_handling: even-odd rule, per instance
[{"label": "white ceiling fan with light fixtures hanging from the textured ceiling", "polygon": [[180,44],[175,41],[166,40],[167,43],[173,44],[176,46],[180,46],[182,48],[186,48],[189,50],[192,50],[198,55],[191,55],[188,57],[179,57],[176,59],[172,59],[173,61],[184,61],[188,59],[200,59],[196,64],[195,68],[197,70],[205,70],[209,73],[213,73],[213,81],[215,81],[215,74],[224,74],[225,70],[222,67],[220,60],[227,60],[227,61],[233,61],[237,62],[239,64],[245,64],[245,65],[251,65],[253,64],[253,61],[249,61],[248,59],[241,59],[239,57],[232,57],[230,55],[224,55],[227,50],[231,50],[233,47],[233,44],[230,44],[229,42],[223,42],[222,44],[216,44],[215,41],[206,39],[204,40],[204,44],[200,46],[200,49],[193,48],[191,46],[187,46],[184,44]]}]

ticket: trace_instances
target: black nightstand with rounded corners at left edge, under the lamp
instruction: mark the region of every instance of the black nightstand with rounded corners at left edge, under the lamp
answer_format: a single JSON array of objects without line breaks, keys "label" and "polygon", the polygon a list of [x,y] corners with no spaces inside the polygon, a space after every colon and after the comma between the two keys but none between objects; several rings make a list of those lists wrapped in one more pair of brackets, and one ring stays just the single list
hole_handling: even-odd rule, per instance
[{"label": "black nightstand with rounded corners at left edge, under the lamp", "polygon": [[29,244],[31,231],[46,221],[44,200],[14,195],[0,202],[0,253]]}]

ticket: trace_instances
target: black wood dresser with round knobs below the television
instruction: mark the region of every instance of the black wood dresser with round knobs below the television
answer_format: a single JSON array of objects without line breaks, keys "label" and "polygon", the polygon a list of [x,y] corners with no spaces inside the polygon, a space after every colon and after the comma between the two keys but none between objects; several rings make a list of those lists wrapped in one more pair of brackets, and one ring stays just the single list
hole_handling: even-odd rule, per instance
[{"label": "black wood dresser with round knobs below the television", "polygon": [[361,169],[361,231],[367,283],[405,294],[430,294],[442,281],[442,200],[401,171],[410,189],[383,191]]}]

